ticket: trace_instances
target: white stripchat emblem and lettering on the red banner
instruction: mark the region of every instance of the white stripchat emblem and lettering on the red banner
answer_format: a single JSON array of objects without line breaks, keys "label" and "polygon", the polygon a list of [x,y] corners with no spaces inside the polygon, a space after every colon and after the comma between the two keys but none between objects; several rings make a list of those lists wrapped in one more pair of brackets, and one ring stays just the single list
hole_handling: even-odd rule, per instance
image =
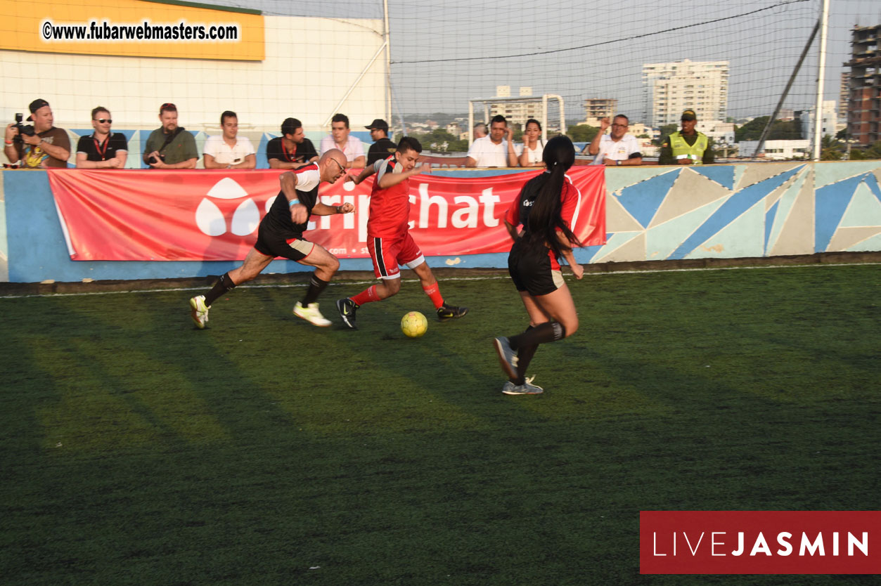
[{"label": "white stripchat emblem and lettering on the red banner", "polygon": [[[355,184],[346,182],[343,185],[345,192],[352,192]],[[263,214],[272,207],[272,202],[278,195],[270,197],[263,204]],[[212,200],[238,200],[242,201],[233,212],[233,217],[227,223],[226,215],[218,207],[218,203]],[[367,217],[370,208],[369,194],[322,194],[322,202],[329,206],[352,203],[357,209],[356,214],[343,216],[343,230],[358,229],[358,241],[366,242]],[[450,213],[450,202],[443,195],[431,195],[428,193],[428,185],[421,183],[418,186],[418,197],[411,194],[410,203],[418,211],[418,219],[411,220],[410,228],[446,228],[451,225],[454,228],[492,228],[499,225],[499,218],[495,217],[495,207],[500,197],[492,194],[492,187],[481,191],[478,196],[459,194],[453,198],[455,210]],[[217,237],[232,232],[236,236],[248,236],[257,230],[260,225],[262,214],[254,199],[249,197],[248,192],[234,179],[225,177],[215,183],[208,193],[199,202],[196,208],[196,227],[207,236]],[[317,222],[312,221],[307,225],[309,230],[329,230],[330,218],[334,216],[320,216]],[[434,218],[432,220],[432,218]],[[333,251],[331,251],[333,252]]]}]

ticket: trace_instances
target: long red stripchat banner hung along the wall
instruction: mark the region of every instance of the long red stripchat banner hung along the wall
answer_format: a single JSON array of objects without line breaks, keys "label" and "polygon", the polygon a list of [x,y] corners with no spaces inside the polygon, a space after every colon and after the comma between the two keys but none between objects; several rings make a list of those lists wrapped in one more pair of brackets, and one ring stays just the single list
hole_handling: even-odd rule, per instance
[{"label": "long red stripchat banner hung along the wall", "polygon": [[[48,173],[73,260],[242,260],[278,195],[279,171],[91,171]],[[494,177],[410,179],[411,233],[426,256],[502,253],[503,217],[536,172]],[[574,232],[584,245],[605,243],[603,167],[569,172],[581,192]],[[353,214],[312,216],[306,238],[339,258],[366,258],[373,177],[359,186],[322,183],[329,205]]]}]

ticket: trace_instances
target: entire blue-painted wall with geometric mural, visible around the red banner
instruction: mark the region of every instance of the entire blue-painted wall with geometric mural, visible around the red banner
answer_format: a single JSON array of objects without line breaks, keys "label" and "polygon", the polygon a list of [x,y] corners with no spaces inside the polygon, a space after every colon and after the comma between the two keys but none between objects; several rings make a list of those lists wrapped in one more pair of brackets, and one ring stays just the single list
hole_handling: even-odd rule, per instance
[{"label": "entire blue-painted wall with geometric mural, visible around the red banner", "polygon": [[[575,256],[600,263],[878,252],[879,180],[881,161],[611,168],[606,170],[608,242]],[[507,255],[428,261],[433,267],[506,267]],[[237,264],[70,260],[46,172],[2,174],[0,282],[221,275]],[[341,264],[343,270],[372,270],[369,259]],[[267,272],[302,270],[307,268],[275,260]]]}]

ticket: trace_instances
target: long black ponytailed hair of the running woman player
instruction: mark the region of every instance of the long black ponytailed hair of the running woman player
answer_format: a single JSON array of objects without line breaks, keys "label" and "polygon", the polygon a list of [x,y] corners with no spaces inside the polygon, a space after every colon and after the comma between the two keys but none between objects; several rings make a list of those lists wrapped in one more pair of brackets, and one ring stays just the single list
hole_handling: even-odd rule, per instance
[{"label": "long black ponytailed hair of the running woman player", "polygon": [[[581,246],[581,241],[560,216],[563,209],[560,193],[566,181],[566,171],[575,162],[575,147],[568,136],[554,136],[544,146],[542,159],[547,166],[547,174],[544,177],[544,185],[539,187],[532,209],[529,210],[526,236],[530,245],[547,243],[554,255],[559,258],[564,251],[571,249],[571,245]],[[570,246],[559,241],[558,229],[569,240]]]}]

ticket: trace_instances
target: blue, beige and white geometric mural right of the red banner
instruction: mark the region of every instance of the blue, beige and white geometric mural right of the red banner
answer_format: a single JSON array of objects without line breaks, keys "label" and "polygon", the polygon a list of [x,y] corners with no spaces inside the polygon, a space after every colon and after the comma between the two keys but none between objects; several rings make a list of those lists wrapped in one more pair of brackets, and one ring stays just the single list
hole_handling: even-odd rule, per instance
[{"label": "blue, beige and white geometric mural right of the red banner", "polygon": [[607,242],[580,262],[881,250],[877,161],[610,171]]}]

